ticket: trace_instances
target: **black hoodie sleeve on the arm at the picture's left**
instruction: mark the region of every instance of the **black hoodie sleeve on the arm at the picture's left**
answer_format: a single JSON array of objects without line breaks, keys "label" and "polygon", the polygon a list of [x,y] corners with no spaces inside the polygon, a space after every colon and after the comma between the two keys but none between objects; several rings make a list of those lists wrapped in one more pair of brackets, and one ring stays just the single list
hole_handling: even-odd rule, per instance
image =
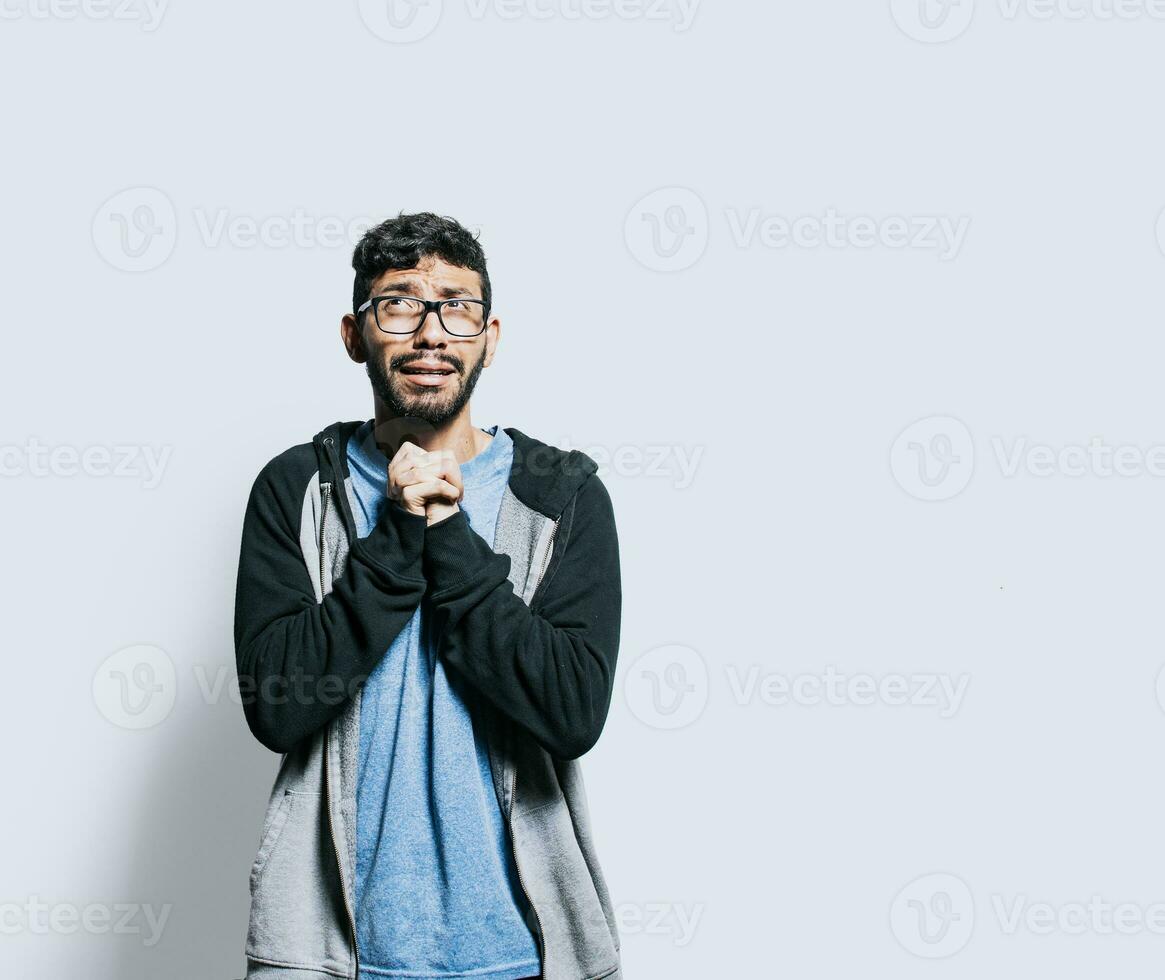
[{"label": "black hoodie sleeve on the arm at the picture's left", "polygon": [[291,479],[278,464],[263,468],[247,502],[234,643],[247,725],[285,753],[340,713],[411,619],[425,591],[426,521],[389,501],[317,602],[299,544],[310,477]]}]

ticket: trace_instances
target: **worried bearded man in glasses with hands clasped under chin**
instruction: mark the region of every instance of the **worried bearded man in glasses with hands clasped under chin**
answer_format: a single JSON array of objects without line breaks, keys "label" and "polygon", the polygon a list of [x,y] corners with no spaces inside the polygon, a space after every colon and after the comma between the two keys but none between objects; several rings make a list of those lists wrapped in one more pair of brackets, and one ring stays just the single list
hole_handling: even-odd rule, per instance
[{"label": "worried bearded man in glasses with hands clasped under chin", "polygon": [[243,521],[240,690],[283,753],[247,977],[620,980],[577,761],[619,648],[610,499],[585,453],[472,424],[501,334],[472,234],[402,214],[352,265],[375,417],[268,463]]}]

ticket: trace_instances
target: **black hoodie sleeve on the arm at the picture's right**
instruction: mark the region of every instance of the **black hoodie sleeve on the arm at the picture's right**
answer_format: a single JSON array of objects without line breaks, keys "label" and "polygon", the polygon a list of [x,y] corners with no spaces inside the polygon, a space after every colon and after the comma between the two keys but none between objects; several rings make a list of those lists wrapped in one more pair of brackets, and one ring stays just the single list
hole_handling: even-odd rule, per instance
[{"label": "black hoodie sleeve on the arm at the picture's right", "polygon": [[593,473],[574,499],[562,559],[531,611],[464,510],[429,527],[426,601],[439,653],[488,701],[557,759],[599,740],[610,706],[622,605],[610,496]]}]

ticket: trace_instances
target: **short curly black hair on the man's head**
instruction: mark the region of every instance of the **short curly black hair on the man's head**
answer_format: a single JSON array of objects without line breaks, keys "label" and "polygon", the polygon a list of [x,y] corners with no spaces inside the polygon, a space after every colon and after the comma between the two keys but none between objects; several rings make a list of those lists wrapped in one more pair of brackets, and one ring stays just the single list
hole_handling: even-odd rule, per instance
[{"label": "short curly black hair on the man's head", "polygon": [[372,290],[372,284],[389,269],[411,269],[423,258],[433,256],[481,276],[481,298],[490,309],[492,290],[486,272],[486,253],[478,237],[459,221],[431,211],[397,214],[365,232],[352,253],[356,277],[352,287],[354,313]]}]

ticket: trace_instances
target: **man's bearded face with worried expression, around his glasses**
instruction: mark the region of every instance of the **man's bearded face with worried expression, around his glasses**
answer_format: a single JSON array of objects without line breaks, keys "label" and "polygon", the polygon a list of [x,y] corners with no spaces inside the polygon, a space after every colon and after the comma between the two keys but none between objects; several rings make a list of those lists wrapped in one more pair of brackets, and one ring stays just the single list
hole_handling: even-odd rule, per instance
[{"label": "man's bearded face with worried expression, around his glasses", "polygon": [[[383,295],[480,299],[481,277],[426,256],[416,268],[380,276],[369,296]],[[367,364],[376,399],[394,417],[421,418],[430,425],[449,422],[465,409],[478,376],[494,358],[500,330],[501,323],[490,316],[483,333],[454,337],[432,312],[414,333],[386,333],[370,308],[359,318],[345,316],[340,327],[348,357]]]}]

